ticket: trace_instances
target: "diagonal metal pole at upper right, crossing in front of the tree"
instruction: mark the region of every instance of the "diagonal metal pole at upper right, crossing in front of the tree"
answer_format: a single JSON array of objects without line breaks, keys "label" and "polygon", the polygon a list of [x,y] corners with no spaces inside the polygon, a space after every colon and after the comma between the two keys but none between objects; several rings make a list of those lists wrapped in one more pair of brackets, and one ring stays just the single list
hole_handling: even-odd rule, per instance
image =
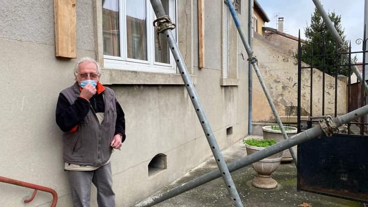
[{"label": "diagonal metal pole at upper right, crossing in front of the tree", "polygon": [[[321,17],[323,18],[323,20],[326,23],[326,26],[328,28],[328,30],[331,32],[332,37],[335,39],[335,42],[337,44],[337,47],[339,48],[339,50],[349,50],[349,47],[347,45],[344,44],[344,42],[342,41],[340,35],[337,33],[336,28],[333,26],[333,23],[330,19],[330,17],[328,16],[328,14],[326,13],[325,9],[323,8],[322,4],[320,3],[319,0],[312,0],[315,7],[317,8],[319,14],[321,15]],[[365,40],[364,40],[365,41]],[[366,50],[365,48],[363,50]],[[347,54],[347,56],[349,57],[349,55]],[[351,64],[352,68],[353,68],[353,72],[355,73],[355,75],[357,76],[359,82],[361,82],[362,86],[364,87],[365,93],[368,95],[368,85],[365,81],[363,81],[362,76],[360,75],[359,71],[358,71],[358,67],[355,65],[356,63],[354,62],[353,59],[351,59]]]}]

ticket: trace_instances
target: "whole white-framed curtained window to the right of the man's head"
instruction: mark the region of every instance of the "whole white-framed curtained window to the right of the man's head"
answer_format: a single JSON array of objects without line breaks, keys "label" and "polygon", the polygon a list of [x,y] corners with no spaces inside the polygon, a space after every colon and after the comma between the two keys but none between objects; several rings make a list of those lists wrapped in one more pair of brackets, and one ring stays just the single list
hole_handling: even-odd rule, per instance
[{"label": "whole white-framed curtained window to the right of the man's head", "polygon": [[[176,0],[162,1],[176,22]],[[175,61],[164,35],[154,31],[149,0],[103,0],[104,67],[131,71],[176,73]],[[174,36],[175,30],[172,30]],[[160,45],[160,48],[159,48]]]}]

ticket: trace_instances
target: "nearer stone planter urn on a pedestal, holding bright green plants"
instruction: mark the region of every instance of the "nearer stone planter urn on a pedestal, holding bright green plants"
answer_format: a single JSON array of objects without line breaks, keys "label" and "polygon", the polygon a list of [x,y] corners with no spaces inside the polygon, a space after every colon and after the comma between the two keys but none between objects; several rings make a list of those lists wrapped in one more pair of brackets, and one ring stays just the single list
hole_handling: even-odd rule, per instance
[{"label": "nearer stone planter urn on a pedestal, holding bright green plants", "polygon": [[[265,147],[255,147],[245,144],[245,148],[249,155],[262,150]],[[281,158],[282,152],[279,152],[251,164],[252,168],[258,173],[258,176],[252,179],[252,186],[261,189],[276,188],[278,182],[271,177],[271,174],[280,166]]]}]

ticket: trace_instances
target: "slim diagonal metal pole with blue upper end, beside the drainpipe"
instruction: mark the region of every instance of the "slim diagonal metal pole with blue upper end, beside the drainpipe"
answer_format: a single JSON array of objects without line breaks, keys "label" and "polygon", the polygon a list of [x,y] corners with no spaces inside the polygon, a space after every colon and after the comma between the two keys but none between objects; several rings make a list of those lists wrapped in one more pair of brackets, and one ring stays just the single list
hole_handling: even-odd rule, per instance
[{"label": "slim diagonal metal pole with blue upper end, beside the drainpipe", "polygon": [[[245,50],[246,50],[246,52],[247,52],[247,54],[248,54],[248,57],[249,57],[249,58],[248,58],[248,61],[250,62],[250,64],[252,64],[252,65],[253,65],[253,67],[254,67],[254,69],[255,69],[255,71],[256,71],[256,74],[257,74],[258,80],[260,81],[261,86],[262,86],[262,88],[263,88],[263,91],[264,91],[264,93],[265,93],[265,95],[266,95],[266,97],[267,97],[267,101],[268,101],[268,103],[269,103],[269,105],[270,105],[270,107],[271,107],[271,110],[272,110],[272,112],[273,112],[273,116],[275,117],[276,122],[277,122],[277,123],[279,124],[279,126],[280,126],[280,130],[281,130],[281,133],[283,134],[284,139],[288,139],[288,136],[287,136],[287,134],[286,134],[285,128],[284,128],[284,126],[283,126],[283,124],[282,124],[282,122],[281,122],[280,116],[279,116],[279,114],[278,114],[278,112],[277,112],[277,110],[276,110],[276,107],[274,106],[274,104],[273,104],[273,102],[272,102],[272,99],[271,99],[271,97],[270,97],[270,95],[269,95],[269,93],[268,93],[268,90],[267,90],[267,87],[266,87],[266,85],[265,85],[265,82],[264,82],[264,80],[263,80],[263,78],[262,78],[262,75],[261,75],[261,73],[260,73],[260,72],[259,72],[259,70],[258,70],[257,58],[253,56],[253,51],[251,50],[251,48],[250,48],[250,46],[249,46],[249,43],[248,43],[248,41],[247,41],[247,39],[246,39],[246,36],[245,36],[245,34],[244,34],[243,28],[242,28],[242,26],[240,25],[240,22],[239,22],[239,19],[238,19],[238,15],[237,15],[237,14],[236,14],[236,12],[235,12],[234,6],[233,6],[233,4],[230,2],[230,0],[226,0],[226,1],[227,1],[227,6],[228,6],[228,8],[229,8],[229,10],[230,10],[230,12],[231,12],[231,14],[232,14],[232,16],[233,16],[233,19],[234,19],[234,22],[235,22],[235,26],[236,26],[236,27],[237,27],[237,29],[238,29],[239,35],[240,35],[240,37],[241,37],[241,39],[242,39],[242,41],[243,41],[243,44],[244,44]],[[289,148],[289,151],[290,151],[290,154],[291,154],[291,156],[292,156],[292,158],[293,158],[293,160],[294,160],[294,164],[295,164],[295,166],[296,166],[296,165],[297,165],[296,154],[294,153],[294,150],[293,150],[292,148]]]}]

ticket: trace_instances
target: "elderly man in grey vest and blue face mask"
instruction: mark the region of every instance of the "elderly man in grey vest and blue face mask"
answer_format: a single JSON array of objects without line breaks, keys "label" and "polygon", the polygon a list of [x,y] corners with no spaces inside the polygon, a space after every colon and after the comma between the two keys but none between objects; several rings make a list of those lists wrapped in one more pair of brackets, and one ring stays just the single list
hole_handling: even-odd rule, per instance
[{"label": "elderly man in grey vest and blue face mask", "polygon": [[76,83],[61,91],[56,123],[64,134],[64,169],[74,206],[89,206],[91,182],[99,206],[115,206],[110,155],[125,140],[124,112],[113,90],[100,82],[101,68],[82,58],[74,68]]}]

